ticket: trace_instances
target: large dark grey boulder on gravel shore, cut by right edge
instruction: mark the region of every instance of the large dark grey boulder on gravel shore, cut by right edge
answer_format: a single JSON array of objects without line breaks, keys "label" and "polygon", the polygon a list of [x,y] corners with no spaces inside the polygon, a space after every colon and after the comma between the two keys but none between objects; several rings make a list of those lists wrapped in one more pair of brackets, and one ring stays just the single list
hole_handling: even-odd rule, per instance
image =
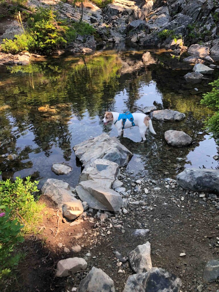
[{"label": "large dark grey boulder on gravel shore, cut by right edge", "polygon": [[194,192],[219,194],[219,170],[185,168],[176,176],[179,185]]}]

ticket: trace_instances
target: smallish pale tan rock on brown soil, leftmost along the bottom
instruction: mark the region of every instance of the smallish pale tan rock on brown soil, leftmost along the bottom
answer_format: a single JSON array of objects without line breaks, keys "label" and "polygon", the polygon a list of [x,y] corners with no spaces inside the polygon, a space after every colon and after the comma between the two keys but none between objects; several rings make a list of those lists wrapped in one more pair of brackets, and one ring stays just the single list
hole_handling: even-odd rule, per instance
[{"label": "smallish pale tan rock on brown soil, leftmost along the bottom", "polygon": [[83,258],[67,258],[66,260],[58,261],[56,267],[56,277],[67,277],[71,274],[77,273],[78,271],[85,270],[87,262]]}]

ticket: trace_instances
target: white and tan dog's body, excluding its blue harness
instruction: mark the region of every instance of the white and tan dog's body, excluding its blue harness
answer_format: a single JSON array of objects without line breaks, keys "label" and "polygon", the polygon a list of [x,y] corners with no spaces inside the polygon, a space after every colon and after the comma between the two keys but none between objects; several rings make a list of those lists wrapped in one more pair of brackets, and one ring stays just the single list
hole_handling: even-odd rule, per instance
[{"label": "white and tan dog's body, excluding its blue harness", "polygon": [[[132,114],[133,119],[134,119],[134,125],[138,126],[140,135],[143,139],[143,142],[146,141],[145,134],[147,134],[147,129],[149,128],[149,131],[156,135],[154,128],[152,126],[152,121],[150,117],[146,116],[146,114],[143,113],[133,113]],[[123,119],[118,120],[119,118],[119,113],[118,112],[105,112],[104,118],[102,119],[102,122],[104,125],[107,124],[114,124],[115,127],[118,130],[118,135],[121,136],[123,133],[123,128],[131,128],[133,127],[133,122],[131,122],[128,118],[126,119],[125,124],[123,124]]]}]

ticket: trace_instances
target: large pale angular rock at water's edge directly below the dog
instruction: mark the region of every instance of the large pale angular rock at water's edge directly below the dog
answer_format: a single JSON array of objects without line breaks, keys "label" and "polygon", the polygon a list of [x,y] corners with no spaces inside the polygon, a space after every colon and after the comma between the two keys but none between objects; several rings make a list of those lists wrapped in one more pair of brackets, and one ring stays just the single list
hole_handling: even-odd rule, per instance
[{"label": "large pale angular rock at water's edge directly below the dog", "polygon": [[73,149],[84,166],[97,158],[108,159],[119,166],[125,166],[133,155],[116,137],[109,137],[105,133],[75,145]]}]

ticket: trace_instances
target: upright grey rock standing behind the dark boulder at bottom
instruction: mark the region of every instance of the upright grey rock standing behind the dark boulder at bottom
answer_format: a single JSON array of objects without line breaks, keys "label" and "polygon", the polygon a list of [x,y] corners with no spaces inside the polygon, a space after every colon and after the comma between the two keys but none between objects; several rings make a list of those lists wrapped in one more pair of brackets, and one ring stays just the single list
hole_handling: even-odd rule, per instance
[{"label": "upright grey rock standing behind the dark boulder at bottom", "polygon": [[128,254],[128,262],[135,273],[147,272],[152,268],[151,245],[147,241],[145,244],[138,245]]}]

